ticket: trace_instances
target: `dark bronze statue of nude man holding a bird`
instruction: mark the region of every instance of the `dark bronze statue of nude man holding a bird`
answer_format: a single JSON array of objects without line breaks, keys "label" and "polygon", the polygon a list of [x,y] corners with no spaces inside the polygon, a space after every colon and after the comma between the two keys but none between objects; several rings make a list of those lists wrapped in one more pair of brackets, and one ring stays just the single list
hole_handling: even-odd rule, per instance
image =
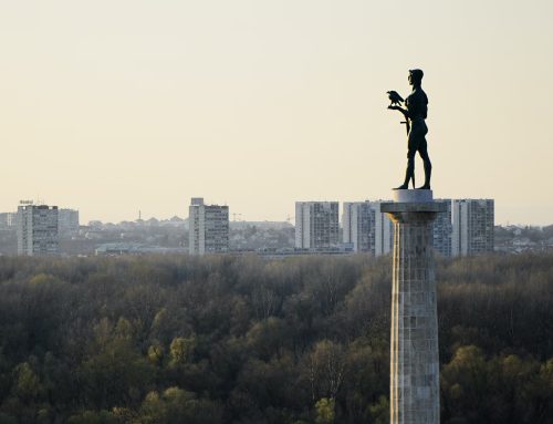
[{"label": "dark bronze statue of nude man holding a bird", "polygon": [[[415,155],[417,152],[425,165],[425,184],[419,189],[430,189],[432,164],[427,152],[426,134],[428,127],[425,122],[428,114],[428,97],[421,87],[422,76],[421,70],[409,71],[409,84],[413,85],[413,92],[405,102],[395,91],[388,91],[388,97],[392,102],[388,108],[401,112],[405,116],[403,124],[406,124],[407,127],[407,170],[404,184],[395,189],[407,189],[410,180],[413,180],[413,188],[415,188]],[[405,108],[397,106],[400,102],[405,103]]]}]

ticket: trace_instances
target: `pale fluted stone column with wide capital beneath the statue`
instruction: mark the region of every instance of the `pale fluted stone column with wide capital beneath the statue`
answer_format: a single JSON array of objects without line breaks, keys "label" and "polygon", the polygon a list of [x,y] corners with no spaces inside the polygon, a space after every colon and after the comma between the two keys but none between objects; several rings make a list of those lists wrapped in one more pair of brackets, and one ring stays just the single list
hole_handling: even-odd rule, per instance
[{"label": "pale fluted stone column with wide capital beneath the statue", "polygon": [[438,313],[431,190],[395,190],[380,205],[394,221],[390,424],[439,424]]}]

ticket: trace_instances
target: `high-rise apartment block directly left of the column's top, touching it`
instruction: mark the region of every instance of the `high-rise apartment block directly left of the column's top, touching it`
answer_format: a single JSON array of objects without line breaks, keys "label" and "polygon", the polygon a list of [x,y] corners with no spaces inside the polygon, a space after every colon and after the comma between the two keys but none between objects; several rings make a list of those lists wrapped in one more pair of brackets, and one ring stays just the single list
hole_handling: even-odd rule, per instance
[{"label": "high-rise apartment block directly left of the column's top, touching it", "polygon": [[380,201],[346,201],[342,215],[343,241],[353,244],[356,252],[373,256],[389,254],[394,227],[386,214],[380,213]]}]

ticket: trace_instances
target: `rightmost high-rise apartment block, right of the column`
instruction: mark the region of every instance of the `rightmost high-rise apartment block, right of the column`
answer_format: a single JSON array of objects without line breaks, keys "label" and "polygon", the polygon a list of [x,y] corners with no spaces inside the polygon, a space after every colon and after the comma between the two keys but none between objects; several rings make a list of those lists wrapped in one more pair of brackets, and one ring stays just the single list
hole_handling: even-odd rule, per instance
[{"label": "rightmost high-rise apartment block, right of the column", "polygon": [[493,251],[493,199],[451,201],[451,255],[470,256]]}]

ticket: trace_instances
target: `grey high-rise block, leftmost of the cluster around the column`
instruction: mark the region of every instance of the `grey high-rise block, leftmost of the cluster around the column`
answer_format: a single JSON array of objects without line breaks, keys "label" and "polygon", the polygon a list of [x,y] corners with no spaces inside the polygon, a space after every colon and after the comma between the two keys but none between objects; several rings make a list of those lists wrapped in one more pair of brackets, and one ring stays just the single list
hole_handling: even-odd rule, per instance
[{"label": "grey high-rise block, leftmost of the cluster around the column", "polygon": [[296,249],[328,249],[338,246],[338,203],[295,203]]}]

